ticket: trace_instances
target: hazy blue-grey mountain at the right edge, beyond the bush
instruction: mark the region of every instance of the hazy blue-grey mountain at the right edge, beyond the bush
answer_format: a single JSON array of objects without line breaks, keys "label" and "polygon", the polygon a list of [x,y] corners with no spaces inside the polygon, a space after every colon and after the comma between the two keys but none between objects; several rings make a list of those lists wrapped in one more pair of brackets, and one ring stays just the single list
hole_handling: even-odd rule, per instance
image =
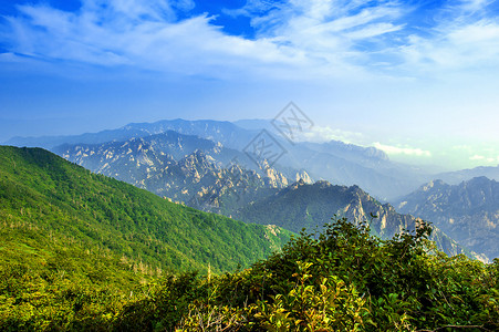
[{"label": "hazy blue-grey mountain at the right edge, beyond the bush", "polygon": [[499,257],[499,183],[476,177],[459,185],[434,180],[396,203],[398,210],[425,218],[459,243]]}]

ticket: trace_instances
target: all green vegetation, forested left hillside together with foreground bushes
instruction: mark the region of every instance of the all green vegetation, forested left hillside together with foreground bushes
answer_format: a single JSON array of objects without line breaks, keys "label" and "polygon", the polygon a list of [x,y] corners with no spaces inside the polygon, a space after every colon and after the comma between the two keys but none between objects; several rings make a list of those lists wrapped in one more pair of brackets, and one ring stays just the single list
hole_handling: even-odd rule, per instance
[{"label": "all green vegetation, forested left hillside together with foreground bushes", "polygon": [[430,232],[293,236],[0,147],[0,330],[498,331],[499,260]]}]

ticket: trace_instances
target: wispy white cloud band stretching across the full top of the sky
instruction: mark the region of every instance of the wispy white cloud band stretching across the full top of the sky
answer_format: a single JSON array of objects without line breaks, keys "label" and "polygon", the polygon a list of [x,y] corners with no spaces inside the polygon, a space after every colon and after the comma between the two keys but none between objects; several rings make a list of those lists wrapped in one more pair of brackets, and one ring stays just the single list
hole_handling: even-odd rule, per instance
[{"label": "wispy white cloud band stretching across the full top of the sky", "polygon": [[[414,76],[499,66],[491,2],[424,10],[396,0],[250,0],[226,10],[232,18],[249,17],[252,39],[226,33],[210,13],[189,14],[193,0],[84,0],[74,12],[23,4],[0,23],[0,41],[10,53],[41,60],[185,74]],[[416,13],[426,23],[409,19]]]}]

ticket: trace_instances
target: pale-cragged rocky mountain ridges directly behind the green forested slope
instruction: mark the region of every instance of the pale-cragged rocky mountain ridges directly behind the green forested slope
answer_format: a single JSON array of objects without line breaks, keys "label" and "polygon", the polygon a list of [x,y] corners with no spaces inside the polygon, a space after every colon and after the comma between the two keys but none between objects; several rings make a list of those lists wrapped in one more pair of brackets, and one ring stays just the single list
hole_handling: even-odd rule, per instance
[{"label": "pale-cragged rocky mountain ridges directly behind the green forested slope", "polygon": [[[324,180],[311,185],[306,174],[294,181],[272,167],[261,168],[259,174],[237,163],[227,165],[227,160],[247,156],[221,143],[171,131],[126,142],[61,145],[54,151],[93,172],[190,207],[247,222],[274,224],[294,232],[322,227],[334,215],[354,222],[378,215],[372,228],[385,239],[404,229],[414,230],[418,222],[387,204],[381,205],[358,186],[333,186]],[[438,228],[433,239],[449,255],[466,251]]]}]

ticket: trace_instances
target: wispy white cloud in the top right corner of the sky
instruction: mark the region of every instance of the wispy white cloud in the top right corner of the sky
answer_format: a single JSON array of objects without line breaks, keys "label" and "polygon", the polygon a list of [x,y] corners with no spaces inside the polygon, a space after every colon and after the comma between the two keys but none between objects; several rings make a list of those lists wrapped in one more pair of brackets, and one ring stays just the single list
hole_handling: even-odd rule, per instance
[{"label": "wispy white cloud in the top right corner of the sky", "polygon": [[399,48],[404,65],[424,71],[490,69],[499,65],[499,20],[495,1],[465,0],[439,10],[427,35],[409,34]]}]

